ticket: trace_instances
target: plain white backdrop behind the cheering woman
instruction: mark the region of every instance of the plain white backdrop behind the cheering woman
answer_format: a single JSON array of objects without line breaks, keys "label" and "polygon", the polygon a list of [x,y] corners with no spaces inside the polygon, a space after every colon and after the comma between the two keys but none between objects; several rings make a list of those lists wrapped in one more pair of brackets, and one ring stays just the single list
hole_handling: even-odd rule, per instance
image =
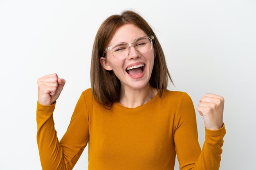
[{"label": "plain white backdrop behind the cheering woman", "polygon": [[[197,111],[205,93],[225,98],[227,133],[220,170],[248,170],[256,160],[256,1],[0,0],[0,169],[40,170],[36,143],[37,79],[51,73],[66,84],[54,111],[61,139],[81,92],[90,87],[96,32],[108,16],[139,12],[164,49],[175,83]],[[88,146],[74,170],[88,167]],[[175,170],[178,170],[176,159]]]}]

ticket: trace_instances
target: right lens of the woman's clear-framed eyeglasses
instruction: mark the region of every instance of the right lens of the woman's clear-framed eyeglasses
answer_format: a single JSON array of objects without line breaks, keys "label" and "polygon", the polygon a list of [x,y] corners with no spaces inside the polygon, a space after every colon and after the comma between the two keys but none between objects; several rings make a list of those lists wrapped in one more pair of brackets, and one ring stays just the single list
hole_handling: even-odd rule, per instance
[{"label": "right lens of the woman's clear-framed eyeglasses", "polygon": [[137,39],[134,45],[141,53],[149,52],[152,48],[151,40],[148,37],[141,37],[140,39]]}]

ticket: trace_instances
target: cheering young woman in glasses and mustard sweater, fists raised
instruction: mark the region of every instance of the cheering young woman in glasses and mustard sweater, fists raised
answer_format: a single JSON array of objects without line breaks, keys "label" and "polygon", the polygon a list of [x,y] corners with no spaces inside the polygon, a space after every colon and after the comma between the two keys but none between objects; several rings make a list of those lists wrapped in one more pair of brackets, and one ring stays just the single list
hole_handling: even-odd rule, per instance
[{"label": "cheering young woman in glasses and mustard sweater, fists raised", "polygon": [[53,111],[65,80],[38,79],[36,120],[44,170],[72,169],[89,142],[89,170],[216,170],[220,166],[224,98],[205,94],[198,111],[205,142],[198,143],[193,102],[186,92],[166,89],[164,52],[137,13],[108,17],[95,37],[92,88],[82,92],[67,132],[58,141]]}]

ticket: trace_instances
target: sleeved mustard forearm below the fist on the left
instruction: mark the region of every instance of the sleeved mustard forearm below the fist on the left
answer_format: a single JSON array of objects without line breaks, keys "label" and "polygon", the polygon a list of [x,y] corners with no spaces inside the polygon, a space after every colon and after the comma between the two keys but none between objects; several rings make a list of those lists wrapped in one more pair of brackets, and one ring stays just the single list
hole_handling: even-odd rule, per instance
[{"label": "sleeved mustard forearm below the fist on the left", "polygon": [[54,129],[54,120],[52,116],[54,107],[55,103],[47,107],[40,105],[39,103],[37,105],[37,144],[43,170],[63,170],[67,168],[64,168],[65,159],[63,156],[63,149]]}]

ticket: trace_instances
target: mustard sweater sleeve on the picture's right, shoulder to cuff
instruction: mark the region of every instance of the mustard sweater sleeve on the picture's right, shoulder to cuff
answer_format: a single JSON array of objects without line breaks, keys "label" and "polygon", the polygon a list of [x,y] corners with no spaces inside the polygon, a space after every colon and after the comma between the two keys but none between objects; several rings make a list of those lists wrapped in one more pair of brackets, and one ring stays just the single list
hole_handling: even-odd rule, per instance
[{"label": "mustard sweater sleeve on the picture's right, shoulder to cuff", "polygon": [[205,128],[205,141],[201,151],[193,102],[184,92],[175,116],[175,151],[180,170],[218,170],[222,153],[225,124],[218,130]]}]

